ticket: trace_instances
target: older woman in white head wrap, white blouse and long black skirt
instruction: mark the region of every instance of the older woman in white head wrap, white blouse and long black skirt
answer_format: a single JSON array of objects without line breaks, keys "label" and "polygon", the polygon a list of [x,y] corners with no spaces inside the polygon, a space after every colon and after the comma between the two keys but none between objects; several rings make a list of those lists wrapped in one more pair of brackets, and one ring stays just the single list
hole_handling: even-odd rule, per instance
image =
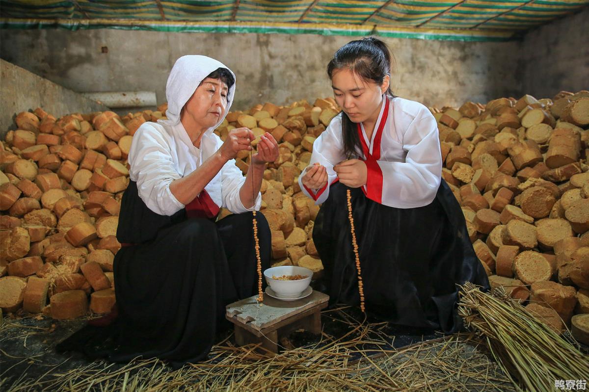
[{"label": "older woman in white head wrap, white blouse and long black skirt", "polygon": [[[261,137],[246,177],[235,166],[252,150],[253,132],[236,128],[223,142],[214,128],[235,93],[235,75],[215,59],[179,58],[168,77],[167,119],[145,122],[128,156],[114,260],[118,316],[89,325],[58,349],[128,361],[158,357],[175,364],[206,358],[225,305],[254,294],[257,282],[253,214],[266,162],[277,143]],[[220,207],[233,215],[216,221]],[[257,215],[263,266],[270,229]],[[106,342],[106,343],[104,343]]]}]

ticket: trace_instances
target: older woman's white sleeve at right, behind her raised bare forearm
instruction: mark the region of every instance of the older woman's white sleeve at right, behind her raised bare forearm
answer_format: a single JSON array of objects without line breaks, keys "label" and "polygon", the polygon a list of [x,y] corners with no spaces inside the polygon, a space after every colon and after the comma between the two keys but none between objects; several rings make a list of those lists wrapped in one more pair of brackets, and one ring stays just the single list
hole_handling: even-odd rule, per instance
[{"label": "older woman's white sleeve at right, behind her raised bare forearm", "polygon": [[[223,141],[215,135],[217,138],[217,149],[221,147]],[[250,208],[243,206],[241,198],[239,197],[239,190],[246,182],[240,168],[235,165],[235,160],[229,160],[221,168],[221,201],[223,207],[233,212],[234,214],[240,214],[241,212],[257,211],[262,207],[262,194],[258,192],[256,196],[256,202]]]}]

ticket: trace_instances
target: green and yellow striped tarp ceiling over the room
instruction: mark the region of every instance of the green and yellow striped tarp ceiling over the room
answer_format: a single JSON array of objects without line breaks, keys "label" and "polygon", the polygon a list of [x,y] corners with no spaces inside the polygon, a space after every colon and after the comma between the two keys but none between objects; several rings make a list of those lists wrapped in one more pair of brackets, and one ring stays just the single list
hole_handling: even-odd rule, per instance
[{"label": "green and yellow striped tarp ceiling over the room", "polygon": [[0,28],[280,32],[497,41],[589,0],[4,0]]}]

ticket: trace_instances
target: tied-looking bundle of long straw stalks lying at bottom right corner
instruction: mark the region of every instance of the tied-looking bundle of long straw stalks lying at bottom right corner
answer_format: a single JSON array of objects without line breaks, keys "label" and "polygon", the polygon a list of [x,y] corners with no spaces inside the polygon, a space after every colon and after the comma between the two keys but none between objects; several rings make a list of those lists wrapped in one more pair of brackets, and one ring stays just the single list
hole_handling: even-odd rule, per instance
[{"label": "tied-looking bundle of long straw stalks lying at bottom right corner", "polygon": [[519,391],[554,391],[555,380],[580,380],[589,374],[587,356],[501,287],[487,294],[467,282],[458,311],[466,326],[487,340],[492,356]]}]

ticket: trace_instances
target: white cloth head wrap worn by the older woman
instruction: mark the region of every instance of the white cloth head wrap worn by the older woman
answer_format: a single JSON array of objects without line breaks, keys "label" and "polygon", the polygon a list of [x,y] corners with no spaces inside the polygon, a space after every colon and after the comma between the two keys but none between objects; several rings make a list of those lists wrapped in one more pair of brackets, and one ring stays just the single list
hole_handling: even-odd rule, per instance
[{"label": "white cloth head wrap worn by the older woman", "polygon": [[[167,119],[159,120],[158,122],[170,126],[178,124],[180,122],[180,111],[186,102],[188,102],[188,99],[192,97],[194,91],[204,78],[218,68],[227,69],[233,75],[233,79],[235,79],[233,71],[214,58],[201,55],[187,55],[177,59],[166,84],[166,99],[168,100]],[[235,83],[229,88],[225,112],[219,117],[219,122],[209,130],[217,128],[223,122],[233,103],[234,96]]]}]

